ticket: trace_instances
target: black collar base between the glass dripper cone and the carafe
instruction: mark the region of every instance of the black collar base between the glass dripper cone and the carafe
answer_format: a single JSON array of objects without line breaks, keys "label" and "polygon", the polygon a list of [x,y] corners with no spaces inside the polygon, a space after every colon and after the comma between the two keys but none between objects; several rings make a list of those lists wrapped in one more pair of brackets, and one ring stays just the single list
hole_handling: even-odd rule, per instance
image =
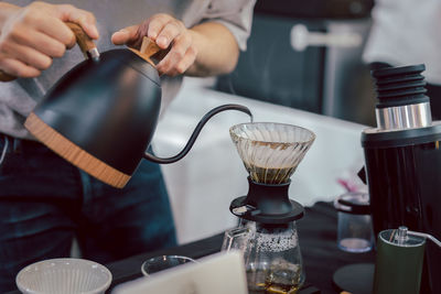
[{"label": "black collar base between the glass dripper cone and the carafe", "polygon": [[303,217],[303,206],[289,199],[291,182],[279,185],[260,184],[248,177],[247,196],[234,199],[229,206],[233,215],[261,224],[287,224]]}]

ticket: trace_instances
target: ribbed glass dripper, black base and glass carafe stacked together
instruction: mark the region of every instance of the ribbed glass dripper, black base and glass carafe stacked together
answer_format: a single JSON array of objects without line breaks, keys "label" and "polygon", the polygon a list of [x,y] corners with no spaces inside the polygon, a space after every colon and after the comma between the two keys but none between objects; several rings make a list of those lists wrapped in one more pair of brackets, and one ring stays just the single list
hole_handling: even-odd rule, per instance
[{"label": "ribbed glass dripper, black base and glass carafe stacked together", "polygon": [[298,293],[305,275],[295,220],[303,207],[289,199],[288,188],[315,134],[256,122],[234,126],[230,135],[249,173],[249,190],[230,205],[240,225],[225,232],[223,250],[244,253],[250,294]]}]

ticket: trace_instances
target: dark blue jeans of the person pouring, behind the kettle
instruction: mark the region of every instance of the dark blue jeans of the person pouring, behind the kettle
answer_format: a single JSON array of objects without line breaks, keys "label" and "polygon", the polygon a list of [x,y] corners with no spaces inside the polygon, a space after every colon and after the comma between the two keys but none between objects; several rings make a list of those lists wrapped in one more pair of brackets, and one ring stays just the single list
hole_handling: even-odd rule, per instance
[{"label": "dark blue jeans of the person pouring, behind the kettle", "polygon": [[123,189],[112,188],[44,145],[0,134],[0,293],[25,265],[82,255],[99,263],[176,244],[158,164],[142,161]]}]

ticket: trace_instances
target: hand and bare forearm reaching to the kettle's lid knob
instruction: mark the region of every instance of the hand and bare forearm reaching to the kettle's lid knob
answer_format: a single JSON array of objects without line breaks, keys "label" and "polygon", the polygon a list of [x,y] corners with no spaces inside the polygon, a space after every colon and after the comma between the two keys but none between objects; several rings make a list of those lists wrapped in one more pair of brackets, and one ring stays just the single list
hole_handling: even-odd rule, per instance
[{"label": "hand and bare forearm reaching to the kettle's lid knob", "polygon": [[161,74],[169,76],[226,74],[235,68],[239,55],[237,42],[225,25],[205,22],[186,29],[181,21],[162,13],[116,32],[111,40],[117,45],[139,47],[144,35],[154,40],[161,48],[172,45],[157,65]]}]

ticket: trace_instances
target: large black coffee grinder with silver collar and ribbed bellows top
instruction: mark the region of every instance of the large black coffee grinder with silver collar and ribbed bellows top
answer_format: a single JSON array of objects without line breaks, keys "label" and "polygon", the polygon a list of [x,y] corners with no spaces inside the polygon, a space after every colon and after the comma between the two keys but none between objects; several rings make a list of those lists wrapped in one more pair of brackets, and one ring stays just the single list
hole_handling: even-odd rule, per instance
[{"label": "large black coffee grinder with silver collar and ribbed bellows top", "polygon": [[[432,122],[423,65],[373,72],[377,128],[362,133],[374,231],[407,226],[441,238],[441,121]],[[421,293],[441,293],[441,251],[428,246]]]}]

